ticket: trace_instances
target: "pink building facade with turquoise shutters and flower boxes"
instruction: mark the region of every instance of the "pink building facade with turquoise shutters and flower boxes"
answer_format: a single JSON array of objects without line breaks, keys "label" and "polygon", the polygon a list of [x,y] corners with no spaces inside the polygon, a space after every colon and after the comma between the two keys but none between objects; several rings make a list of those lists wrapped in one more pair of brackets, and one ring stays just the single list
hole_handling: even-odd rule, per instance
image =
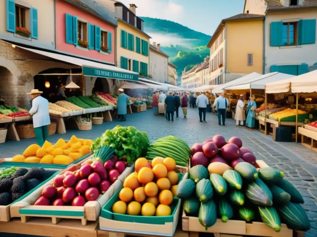
[{"label": "pink building facade with turquoise shutters and flower boxes", "polygon": [[115,64],[115,25],[78,0],[55,3],[56,50]]}]

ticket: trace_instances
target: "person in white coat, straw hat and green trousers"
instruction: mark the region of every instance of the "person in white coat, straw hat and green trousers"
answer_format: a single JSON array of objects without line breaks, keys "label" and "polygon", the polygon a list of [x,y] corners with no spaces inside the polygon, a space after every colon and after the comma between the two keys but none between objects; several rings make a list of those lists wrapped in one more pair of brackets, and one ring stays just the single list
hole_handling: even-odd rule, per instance
[{"label": "person in white coat, straw hat and green trousers", "polygon": [[29,95],[32,99],[32,108],[29,113],[33,118],[34,133],[36,142],[42,146],[49,136],[49,128],[47,125],[51,123],[49,118],[49,101],[41,96],[43,92],[38,89],[31,90]]}]

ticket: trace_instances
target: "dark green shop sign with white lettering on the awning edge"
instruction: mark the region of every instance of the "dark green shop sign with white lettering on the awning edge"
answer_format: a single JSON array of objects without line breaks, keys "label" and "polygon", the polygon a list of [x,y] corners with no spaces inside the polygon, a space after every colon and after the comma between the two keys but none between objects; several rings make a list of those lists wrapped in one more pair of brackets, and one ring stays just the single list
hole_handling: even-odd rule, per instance
[{"label": "dark green shop sign with white lettering on the awning edge", "polygon": [[105,69],[93,68],[93,67],[87,67],[87,66],[82,67],[82,74],[84,76],[97,76],[97,77],[106,77],[106,78],[119,79],[119,80],[139,81],[138,74],[105,70]]}]

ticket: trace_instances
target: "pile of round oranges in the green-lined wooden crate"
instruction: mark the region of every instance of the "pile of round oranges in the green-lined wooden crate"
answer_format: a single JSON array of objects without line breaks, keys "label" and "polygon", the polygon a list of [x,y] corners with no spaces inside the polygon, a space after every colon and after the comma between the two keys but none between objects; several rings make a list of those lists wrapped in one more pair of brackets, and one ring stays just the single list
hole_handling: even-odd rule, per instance
[{"label": "pile of round oranges in the green-lined wooden crate", "polygon": [[135,172],[124,180],[120,201],[113,204],[113,212],[133,216],[171,215],[170,205],[178,185],[175,167],[176,162],[170,157],[156,157],[152,162],[137,159]]}]

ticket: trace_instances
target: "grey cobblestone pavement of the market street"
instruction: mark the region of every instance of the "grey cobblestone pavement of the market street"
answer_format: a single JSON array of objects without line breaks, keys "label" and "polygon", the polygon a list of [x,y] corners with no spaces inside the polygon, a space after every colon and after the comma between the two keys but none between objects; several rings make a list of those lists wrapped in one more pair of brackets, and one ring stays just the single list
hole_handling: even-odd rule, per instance
[{"label": "grey cobblestone pavement of the market street", "polygon": [[[269,166],[283,171],[285,177],[300,190],[305,200],[304,208],[312,225],[306,236],[317,236],[316,152],[299,143],[277,143],[272,140],[272,136],[265,136],[259,131],[249,131],[245,127],[236,127],[233,119],[227,119],[226,126],[219,126],[217,117],[212,113],[207,113],[207,123],[200,123],[198,109],[188,108],[187,119],[181,116],[182,110],[179,109],[179,111],[180,117],[174,118],[173,122],[166,121],[161,116],[154,116],[150,110],[128,114],[125,122],[113,121],[94,125],[90,131],[68,130],[66,134],[49,136],[49,141],[54,143],[58,138],[67,140],[72,135],[94,140],[104,131],[116,125],[134,126],[141,131],[146,131],[151,142],[160,137],[173,135],[184,139],[190,146],[197,142],[202,143],[216,134],[223,135],[227,140],[233,136],[240,137],[243,146],[253,151],[257,159],[262,159]],[[0,158],[21,154],[32,143],[36,143],[35,138],[2,143],[0,144]]]}]

